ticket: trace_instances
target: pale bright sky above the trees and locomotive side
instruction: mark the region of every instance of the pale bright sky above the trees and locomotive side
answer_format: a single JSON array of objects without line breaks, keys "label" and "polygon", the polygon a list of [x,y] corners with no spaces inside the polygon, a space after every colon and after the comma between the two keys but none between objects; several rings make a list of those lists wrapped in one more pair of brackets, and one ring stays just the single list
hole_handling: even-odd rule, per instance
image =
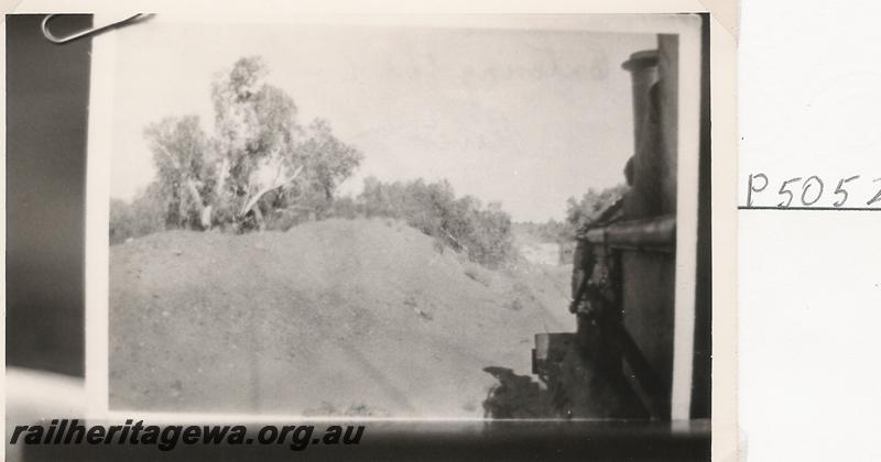
[{"label": "pale bright sky above the trees and locomotive side", "polygon": [[633,151],[630,76],[621,63],[652,34],[148,21],[116,32],[111,196],[152,180],[144,128],[199,114],[210,82],[261,55],[305,124],[330,121],[365,161],[341,187],[447,178],[457,195],[501,201],[515,221],[565,216],[588,187],[623,180]]}]

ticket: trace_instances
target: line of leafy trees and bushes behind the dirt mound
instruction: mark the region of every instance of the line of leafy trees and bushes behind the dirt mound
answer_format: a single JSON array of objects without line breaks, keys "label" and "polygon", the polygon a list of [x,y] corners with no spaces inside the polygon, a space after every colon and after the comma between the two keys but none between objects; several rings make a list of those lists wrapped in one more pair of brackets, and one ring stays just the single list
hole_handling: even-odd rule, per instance
[{"label": "line of leafy trees and bushes behind the dirt mound", "polygon": [[[110,243],[157,231],[287,230],[331,217],[405,221],[443,245],[497,266],[513,253],[512,221],[500,204],[457,197],[449,182],[383,183],[370,177],[356,197],[338,186],[363,160],[330,123],[303,125],[286,92],[267,81],[260,57],[243,57],[211,84],[214,132],[197,116],[151,123],[144,138],[155,178],[126,202],[110,202]],[[566,219],[534,224],[548,241],[569,245],[576,231],[620,199],[627,187],[590,188],[569,198]]]}]

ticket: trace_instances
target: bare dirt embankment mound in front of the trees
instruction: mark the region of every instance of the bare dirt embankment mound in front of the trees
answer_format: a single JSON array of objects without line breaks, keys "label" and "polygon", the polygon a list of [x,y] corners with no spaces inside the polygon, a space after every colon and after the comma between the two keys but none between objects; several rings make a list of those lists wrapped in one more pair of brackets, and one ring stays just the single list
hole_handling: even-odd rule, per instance
[{"label": "bare dirt embankment mound in front of the trees", "polygon": [[110,251],[110,406],[479,417],[487,366],[573,330],[566,267],[490,271],[392,220]]}]

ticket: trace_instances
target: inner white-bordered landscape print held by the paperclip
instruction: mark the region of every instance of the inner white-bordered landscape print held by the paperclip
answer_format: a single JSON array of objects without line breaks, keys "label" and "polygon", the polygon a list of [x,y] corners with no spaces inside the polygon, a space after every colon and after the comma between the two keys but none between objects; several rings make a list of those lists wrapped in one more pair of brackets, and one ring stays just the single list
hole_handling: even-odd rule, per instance
[{"label": "inner white-bordered landscape print held by the paperclip", "polygon": [[678,34],[142,21],[109,57],[110,410],[707,411]]}]

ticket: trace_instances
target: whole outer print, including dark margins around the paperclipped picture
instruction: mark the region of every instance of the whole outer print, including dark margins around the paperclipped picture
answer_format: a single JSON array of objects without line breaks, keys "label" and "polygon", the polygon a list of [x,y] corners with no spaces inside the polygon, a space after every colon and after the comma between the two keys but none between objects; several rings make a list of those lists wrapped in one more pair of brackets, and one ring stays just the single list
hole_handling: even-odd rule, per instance
[{"label": "whole outer print, including dark margins around the paperclipped picture", "polygon": [[[9,164],[9,299],[31,304],[8,318],[13,389],[123,435],[347,422],[367,459],[553,441],[709,460],[709,31],[696,13],[8,16],[10,140],[30,153]],[[32,208],[37,189],[67,202]],[[152,457],[120,448],[94,454]]]}]

